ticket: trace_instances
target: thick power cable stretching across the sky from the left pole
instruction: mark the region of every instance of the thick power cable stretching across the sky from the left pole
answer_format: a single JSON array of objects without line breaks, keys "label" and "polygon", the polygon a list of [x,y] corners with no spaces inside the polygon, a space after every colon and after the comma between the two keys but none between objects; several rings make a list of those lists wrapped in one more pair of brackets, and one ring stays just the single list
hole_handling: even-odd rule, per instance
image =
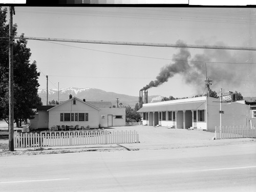
[{"label": "thick power cable stretching across the sky from the left pole", "polygon": [[192,45],[192,44],[125,42],[125,41],[101,41],[101,40],[59,39],[59,38],[43,38],[43,37],[15,37],[15,39],[40,40],[40,41],[58,41],[58,42],[75,42],[75,43],[93,43],[93,44],[113,44],[113,45],[179,47],[179,48],[193,48],[193,49],[256,51],[256,47],[245,47],[245,46],[218,46],[218,45]]}]

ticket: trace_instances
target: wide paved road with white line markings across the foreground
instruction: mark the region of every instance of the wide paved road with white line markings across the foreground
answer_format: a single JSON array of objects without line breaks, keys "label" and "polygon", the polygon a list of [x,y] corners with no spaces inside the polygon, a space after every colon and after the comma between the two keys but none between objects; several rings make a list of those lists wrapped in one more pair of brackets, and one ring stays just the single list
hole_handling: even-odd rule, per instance
[{"label": "wide paved road with white line markings across the foreground", "polygon": [[1,191],[256,191],[256,143],[0,157]]}]

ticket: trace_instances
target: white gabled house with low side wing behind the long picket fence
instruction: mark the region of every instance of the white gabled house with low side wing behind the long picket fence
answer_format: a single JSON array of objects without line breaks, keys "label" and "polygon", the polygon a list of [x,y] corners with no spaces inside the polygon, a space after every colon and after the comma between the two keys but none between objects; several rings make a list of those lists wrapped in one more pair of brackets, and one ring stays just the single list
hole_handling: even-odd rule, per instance
[{"label": "white gabled house with low side wing behind the long picket fence", "polygon": [[111,102],[86,102],[70,95],[69,100],[59,105],[39,106],[30,123],[32,129],[57,125],[90,128],[125,126],[125,108],[112,108]]}]

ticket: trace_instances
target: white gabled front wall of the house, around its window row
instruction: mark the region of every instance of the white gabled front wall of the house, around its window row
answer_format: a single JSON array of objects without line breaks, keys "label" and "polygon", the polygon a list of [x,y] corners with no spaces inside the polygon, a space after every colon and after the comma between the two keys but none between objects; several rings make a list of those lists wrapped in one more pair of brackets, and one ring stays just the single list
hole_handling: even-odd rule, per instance
[{"label": "white gabled front wall of the house, around its window row", "polygon": [[[60,122],[60,113],[88,113],[88,121],[70,121]],[[73,104],[73,100],[63,103],[55,108],[49,110],[49,128],[56,125],[68,125],[68,126],[90,126],[91,128],[97,128],[99,126],[99,110],[87,105],[79,100],[76,100],[76,104]]]}]

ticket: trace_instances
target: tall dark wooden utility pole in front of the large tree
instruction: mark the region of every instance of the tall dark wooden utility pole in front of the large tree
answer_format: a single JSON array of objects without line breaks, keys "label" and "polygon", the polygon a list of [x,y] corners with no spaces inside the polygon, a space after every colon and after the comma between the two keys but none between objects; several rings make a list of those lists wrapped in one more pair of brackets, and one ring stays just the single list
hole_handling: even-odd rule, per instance
[{"label": "tall dark wooden utility pole in front of the large tree", "polygon": [[12,14],[15,14],[14,7],[10,6],[9,22],[9,150],[14,151],[13,142],[13,121],[14,121],[14,103],[13,103],[13,25]]}]

